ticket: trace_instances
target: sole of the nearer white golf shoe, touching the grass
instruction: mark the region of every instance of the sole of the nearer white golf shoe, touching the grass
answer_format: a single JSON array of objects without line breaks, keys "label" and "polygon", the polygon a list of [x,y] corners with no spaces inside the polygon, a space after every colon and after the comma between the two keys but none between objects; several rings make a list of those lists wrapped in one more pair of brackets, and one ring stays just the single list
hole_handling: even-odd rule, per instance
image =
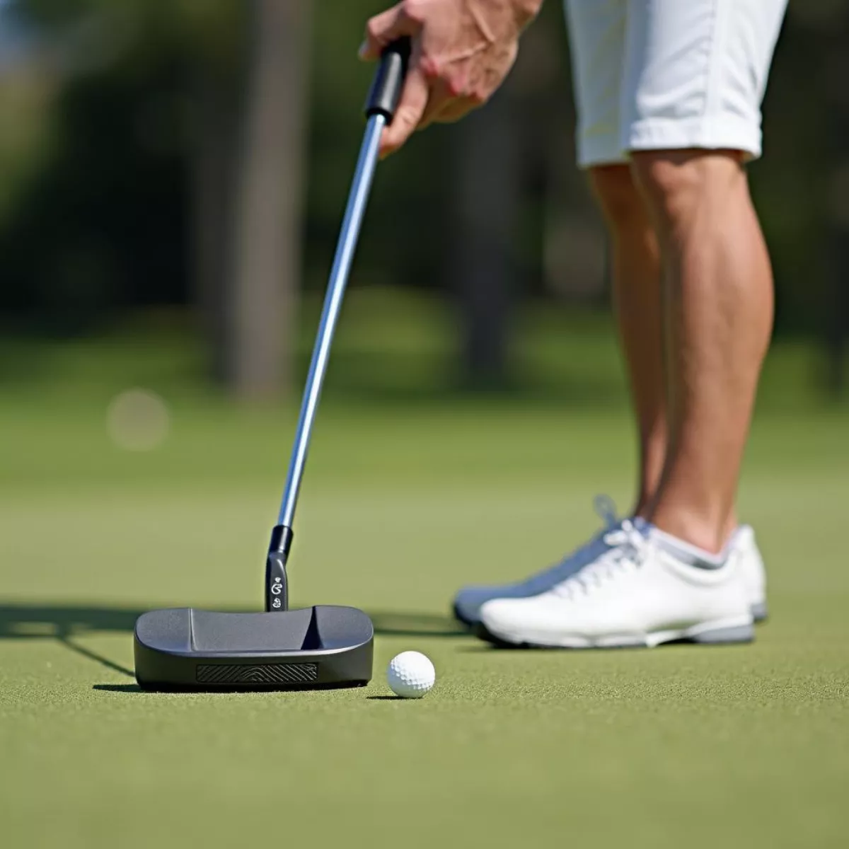
[{"label": "sole of the nearer white golf shoe, touching the grass", "polygon": [[541,635],[496,633],[481,622],[477,636],[487,643],[503,649],[653,649],[665,643],[694,643],[699,645],[730,645],[751,643],[755,639],[755,627],[751,618],[737,617],[712,622],[703,622],[689,628],[655,631],[647,634],[612,634],[609,637],[586,638],[576,634],[565,634],[553,638]]}]

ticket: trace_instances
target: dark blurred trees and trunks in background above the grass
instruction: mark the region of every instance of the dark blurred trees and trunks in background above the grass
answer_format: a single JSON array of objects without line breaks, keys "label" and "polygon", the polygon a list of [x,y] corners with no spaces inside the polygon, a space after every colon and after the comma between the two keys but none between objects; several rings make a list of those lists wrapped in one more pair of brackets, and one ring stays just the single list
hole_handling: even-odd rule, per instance
[{"label": "dark blurred trees and trunks in background above the grass", "polygon": [[[167,313],[233,395],[287,393],[301,295],[323,289],[362,134],[363,22],[383,5],[0,3],[3,336]],[[529,305],[607,309],[569,75],[549,0],[492,104],[381,166],[352,285],[444,302],[463,385],[513,384]],[[834,393],[849,338],[846,79],[849,0],[790,0],[751,178],[777,334],[828,354]]]}]

